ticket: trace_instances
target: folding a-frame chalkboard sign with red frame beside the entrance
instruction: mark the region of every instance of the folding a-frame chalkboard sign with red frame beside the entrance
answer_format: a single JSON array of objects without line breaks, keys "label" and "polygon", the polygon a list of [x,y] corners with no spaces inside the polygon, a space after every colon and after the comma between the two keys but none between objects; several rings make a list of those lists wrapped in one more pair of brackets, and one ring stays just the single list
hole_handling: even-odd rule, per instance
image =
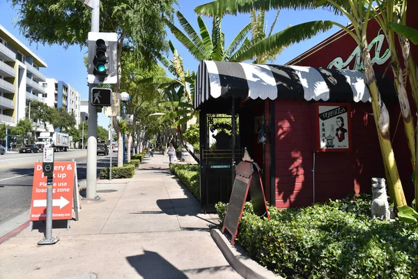
[{"label": "folding a-frame chalkboard sign with red frame beside the entrance", "polygon": [[244,158],[237,165],[235,173],[231,198],[229,199],[224,226],[222,227],[222,232],[225,232],[225,229],[227,229],[231,234],[232,245],[235,245],[235,238],[238,234],[238,226],[240,225],[248,191],[251,196],[254,213],[260,217],[265,216],[270,220],[267,203],[265,202],[263,183],[261,182],[260,168],[249,157],[247,149],[245,149]]}]

